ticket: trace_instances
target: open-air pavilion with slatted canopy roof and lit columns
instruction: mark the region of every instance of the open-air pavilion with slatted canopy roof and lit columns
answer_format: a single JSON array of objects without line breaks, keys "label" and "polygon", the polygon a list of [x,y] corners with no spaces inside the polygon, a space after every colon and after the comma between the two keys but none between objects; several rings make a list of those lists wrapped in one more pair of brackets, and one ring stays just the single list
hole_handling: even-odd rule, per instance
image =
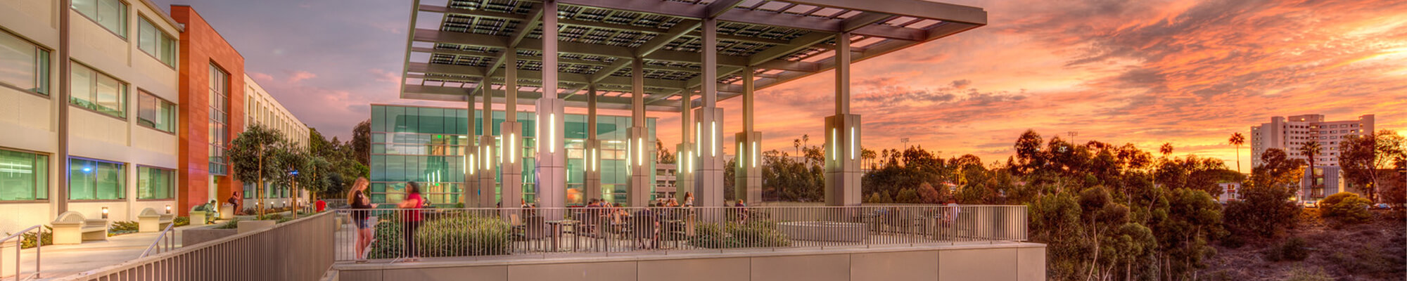
[{"label": "open-air pavilion with slatted canopy roof and lit columns", "polygon": [[[858,205],[862,132],[860,115],[850,110],[850,65],[982,27],[986,11],[922,0],[449,0],[416,3],[409,18],[401,98],[459,101],[484,111],[502,103],[511,124],[518,122],[518,103],[533,103],[535,119],[545,121],[537,136],[546,138],[533,150],[535,170],[505,164],[504,180],[487,183],[515,185],[530,174],[542,207],[568,201],[560,118],[566,107],[590,108],[588,118],[598,107],[630,110],[635,124],[628,139],[647,138],[646,111],[678,112],[675,195],[689,191],[699,207],[722,207],[725,169],[734,169],[736,197],[760,200],[756,90],[830,70],[834,115],[816,119],[826,131],[826,204]],[[727,131],[718,101],[734,97],[743,100],[743,108],[733,108],[743,128]],[[746,159],[739,166],[725,164],[734,153],[723,149],[725,133],[733,136],[736,156]],[[597,149],[595,140],[587,139],[588,152]],[[495,145],[487,135],[471,142]],[[515,142],[504,143],[519,150]],[[626,150],[653,146],[633,145],[640,148]],[[653,194],[654,169],[632,160],[626,205],[639,207]],[[588,188],[592,184],[587,181]],[[512,188],[504,192],[522,197]]]}]

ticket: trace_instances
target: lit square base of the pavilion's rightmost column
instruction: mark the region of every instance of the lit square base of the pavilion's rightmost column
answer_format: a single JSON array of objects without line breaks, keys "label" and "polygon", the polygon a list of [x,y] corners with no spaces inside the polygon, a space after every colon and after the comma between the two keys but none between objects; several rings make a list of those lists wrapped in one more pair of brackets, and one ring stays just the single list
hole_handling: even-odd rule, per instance
[{"label": "lit square base of the pavilion's rightmost column", "polygon": [[860,115],[826,117],[826,205],[860,205]]}]

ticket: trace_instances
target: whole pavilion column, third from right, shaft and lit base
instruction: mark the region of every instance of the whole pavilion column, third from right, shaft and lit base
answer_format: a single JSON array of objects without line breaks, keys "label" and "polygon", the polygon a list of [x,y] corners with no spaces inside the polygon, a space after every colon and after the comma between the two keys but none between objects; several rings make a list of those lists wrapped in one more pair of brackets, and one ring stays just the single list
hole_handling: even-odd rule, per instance
[{"label": "whole pavilion column, third from right, shaft and lit base", "polygon": [[704,107],[696,111],[699,166],[694,180],[698,207],[723,207],[723,110],[718,108],[718,20],[704,20]]}]

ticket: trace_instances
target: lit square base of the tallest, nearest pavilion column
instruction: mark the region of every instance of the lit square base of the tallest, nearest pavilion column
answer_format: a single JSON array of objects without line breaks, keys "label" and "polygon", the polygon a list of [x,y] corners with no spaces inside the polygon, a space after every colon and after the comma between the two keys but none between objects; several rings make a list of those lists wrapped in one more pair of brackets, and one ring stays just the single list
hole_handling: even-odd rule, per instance
[{"label": "lit square base of the tallest, nearest pavilion column", "polygon": [[[561,142],[566,125],[564,101],[556,97],[537,98],[537,207],[563,208],[567,207],[567,149]],[[507,128],[507,125],[505,125]],[[507,174],[505,174],[507,177]],[[507,185],[507,181],[505,181]],[[547,221],[561,219],[561,214],[552,214]]]}]

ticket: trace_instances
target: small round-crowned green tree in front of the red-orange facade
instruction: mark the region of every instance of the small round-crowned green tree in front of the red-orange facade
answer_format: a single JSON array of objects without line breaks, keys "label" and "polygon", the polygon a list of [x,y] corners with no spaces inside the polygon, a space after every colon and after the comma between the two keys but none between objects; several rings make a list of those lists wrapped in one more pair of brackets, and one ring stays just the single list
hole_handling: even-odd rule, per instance
[{"label": "small round-crowned green tree in front of the red-orange facade", "polygon": [[265,180],[273,178],[280,173],[279,159],[276,155],[283,148],[283,135],[272,131],[260,124],[249,125],[245,132],[235,136],[235,140],[229,142],[229,149],[227,155],[229,156],[231,176],[239,181],[256,183],[255,198],[257,198],[256,214],[263,218],[265,204]]}]

